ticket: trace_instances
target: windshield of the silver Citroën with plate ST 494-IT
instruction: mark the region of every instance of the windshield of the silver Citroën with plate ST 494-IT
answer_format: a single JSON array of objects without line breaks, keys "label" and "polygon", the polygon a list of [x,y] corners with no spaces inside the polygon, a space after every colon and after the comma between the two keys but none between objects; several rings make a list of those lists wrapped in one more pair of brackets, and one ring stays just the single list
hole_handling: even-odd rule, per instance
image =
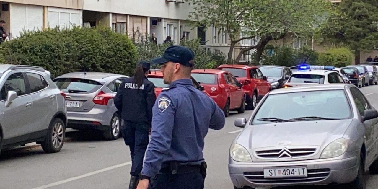
[{"label": "windshield of the silver Citro\u00ebn with plate ST 494-IT", "polygon": [[[279,104],[279,106],[277,106]],[[269,95],[253,118],[252,124],[266,124],[262,118],[294,119],[301,117],[345,119],[350,108],[343,90],[309,91]]]}]

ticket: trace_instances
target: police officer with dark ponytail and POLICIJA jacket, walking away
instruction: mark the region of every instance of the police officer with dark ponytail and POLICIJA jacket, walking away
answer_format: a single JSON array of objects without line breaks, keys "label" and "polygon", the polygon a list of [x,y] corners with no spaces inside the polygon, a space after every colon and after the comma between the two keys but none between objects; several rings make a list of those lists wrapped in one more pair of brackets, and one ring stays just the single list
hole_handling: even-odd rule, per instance
[{"label": "police officer with dark ponytail and POLICIJA jacket, walking away", "polygon": [[156,101],[155,86],[147,80],[149,70],[150,63],[139,62],[134,76],[124,79],[114,98],[114,104],[121,112],[121,132],[125,144],[130,147],[132,166],[129,189],[135,189],[138,185],[144,153],[149,142],[152,106]]}]

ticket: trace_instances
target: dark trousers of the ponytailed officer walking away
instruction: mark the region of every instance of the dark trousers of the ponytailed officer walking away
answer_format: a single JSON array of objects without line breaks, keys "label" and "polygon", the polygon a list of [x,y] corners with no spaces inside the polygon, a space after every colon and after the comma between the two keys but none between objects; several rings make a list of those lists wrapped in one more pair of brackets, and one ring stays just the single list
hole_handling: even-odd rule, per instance
[{"label": "dark trousers of the ponytailed officer walking away", "polygon": [[144,153],[149,143],[148,122],[124,121],[122,136],[125,144],[130,147],[131,170],[130,175],[138,177],[143,167]]}]

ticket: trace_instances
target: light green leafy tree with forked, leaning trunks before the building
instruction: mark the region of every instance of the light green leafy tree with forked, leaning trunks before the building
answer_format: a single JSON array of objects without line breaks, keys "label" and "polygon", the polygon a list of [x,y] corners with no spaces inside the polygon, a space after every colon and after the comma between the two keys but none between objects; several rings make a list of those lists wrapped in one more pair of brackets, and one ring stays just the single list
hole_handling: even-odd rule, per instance
[{"label": "light green leafy tree with forked, leaning trunks before the building", "polygon": [[[330,10],[328,0],[190,0],[194,11],[189,17],[200,25],[223,28],[231,41],[228,62],[235,45],[244,39],[260,39],[235,58],[238,62],[246,51],[256,49],[255,62],[260,62],[265,46],[286,34],[309,36],[321,25]],[[243,35],[240,35],[243,33]]]}]

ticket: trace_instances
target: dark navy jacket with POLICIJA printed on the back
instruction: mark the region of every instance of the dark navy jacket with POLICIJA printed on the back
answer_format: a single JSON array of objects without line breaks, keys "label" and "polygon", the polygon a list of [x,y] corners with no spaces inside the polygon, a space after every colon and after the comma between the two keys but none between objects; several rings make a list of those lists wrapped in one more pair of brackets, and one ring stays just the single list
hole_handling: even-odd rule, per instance
[{"label": "dark navy jacket with POLICIJA printed on the back", "polygon": [[124,79],[114,98],[114,104],[121,112],[121,118],[126,121],[151,123],[152,106],[156,100],[154,88],[155,85],[148,81],[147,77],[143,79],[140,87],[134,83],[134,77]]}]

